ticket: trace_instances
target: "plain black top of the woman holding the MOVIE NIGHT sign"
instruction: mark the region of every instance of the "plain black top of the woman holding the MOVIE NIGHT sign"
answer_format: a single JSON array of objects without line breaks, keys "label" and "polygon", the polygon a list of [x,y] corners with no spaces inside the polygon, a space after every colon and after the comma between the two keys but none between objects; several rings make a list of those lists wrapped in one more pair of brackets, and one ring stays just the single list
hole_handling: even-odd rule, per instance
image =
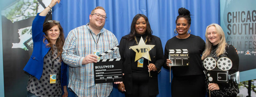
[{"label": "plain black top of the woman holding the MOVIE NIGHT sign", "polygon": [[[179,39],[176,36],[172,37],[166,42],[164,49],[164,58],[169,59],[169,49],[188,49],[189,53],[189,66],[173,66],[173,76],[187,76],[187,75],[200,75],[203,73],[201,55],[205,48],[205,42],[199,36],[190,34],[186,39]],[[163,66],[166,66],[166,63]]]}]

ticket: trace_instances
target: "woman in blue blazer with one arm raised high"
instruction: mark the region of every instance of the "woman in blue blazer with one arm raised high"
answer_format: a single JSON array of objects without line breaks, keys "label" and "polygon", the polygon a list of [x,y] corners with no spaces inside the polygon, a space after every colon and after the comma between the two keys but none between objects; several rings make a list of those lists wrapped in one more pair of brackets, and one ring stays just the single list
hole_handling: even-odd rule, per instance
[{"label": "woman in blue blazer with one arm raised high", "polygon": [[25,70],[30,74],[28,97],[67,97],[67,65],[61,59],[64,45],[63,29],[59,21],[44,23],[45,16],[60,0],[52,0],[32,23],[33,53]]}]

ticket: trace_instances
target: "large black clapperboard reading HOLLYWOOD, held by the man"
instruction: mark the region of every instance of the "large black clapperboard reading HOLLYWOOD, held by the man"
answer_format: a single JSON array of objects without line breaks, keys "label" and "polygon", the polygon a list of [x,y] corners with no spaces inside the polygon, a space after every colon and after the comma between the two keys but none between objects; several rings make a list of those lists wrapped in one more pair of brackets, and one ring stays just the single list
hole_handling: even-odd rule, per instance
[{"label": "large black clapperboard reading HOLLYWOOD, held by the man", "polygon": [[[119,46],[108,50],[98,56],[103,56],[111,51],[114,51]],[[108,83],[123,81],[123,65],[122,59],[101,59],[97,63],[93,63],[94,68],[94,83]]]}]

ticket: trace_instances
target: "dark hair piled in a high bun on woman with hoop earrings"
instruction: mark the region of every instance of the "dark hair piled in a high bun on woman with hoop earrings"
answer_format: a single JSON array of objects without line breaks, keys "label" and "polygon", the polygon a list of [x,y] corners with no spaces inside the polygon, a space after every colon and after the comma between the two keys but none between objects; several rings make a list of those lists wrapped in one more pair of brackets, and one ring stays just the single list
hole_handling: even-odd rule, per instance
[{"label": "dark hair piled in a high bun on woman with hoop earrings", "polygon": [[179,8],[179,16],[177,16],[175,23],[177,23],[177,20],[180,17],[184,17],[188,21],[188,24],[190,25],[191,24],[191,17],[190,16],[191,16],[191,14],[190,14],[189,10],[181,7],[181,8]]}]

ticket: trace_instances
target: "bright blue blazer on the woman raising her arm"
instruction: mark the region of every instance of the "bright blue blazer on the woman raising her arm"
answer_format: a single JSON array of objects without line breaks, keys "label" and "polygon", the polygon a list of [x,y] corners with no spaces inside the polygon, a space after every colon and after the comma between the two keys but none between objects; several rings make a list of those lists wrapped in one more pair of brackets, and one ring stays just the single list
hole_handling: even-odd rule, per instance
[{"label": "bright blue blazer on the woman raising her arm", "polygon": [[[29,74],[35,76],[38,80],[40,80],[43,74],[43,66],[44,66],[44,56],[51,49],[50,47],[46,47],[48,41],[45,39],[43,42],[44,32],[43,32],[43,24],[44,24],[45,16],[39,16],[37,13],[36,18],[32,23],[32,40],[33,40],[33,53],[28,60],[28,63],[23,68],[24,71]],[[67,86],[67,64],[61,61],[61,86]]]}]

